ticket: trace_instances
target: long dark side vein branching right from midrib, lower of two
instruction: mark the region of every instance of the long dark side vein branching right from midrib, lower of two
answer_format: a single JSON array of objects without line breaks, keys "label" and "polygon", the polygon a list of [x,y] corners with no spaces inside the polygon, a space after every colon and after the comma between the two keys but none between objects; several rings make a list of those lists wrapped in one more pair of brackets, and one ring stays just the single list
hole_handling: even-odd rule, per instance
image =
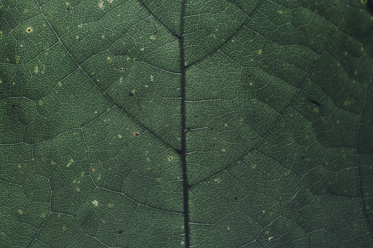
[{"label": "long dark side vein branching right from midrib, lower of two", "polygon": [[332,37],[329,39],[328,43],[325,45],[322,53],[320,53],[320,55],[317,57],[317,60],[314,62],[311,70],[308,72],[307,77],[304,79],[302,85],[299,87],[299,89],[297,90],[297,92],[293,96],[290,104],[286,107],[285,111],[283,111],[283,113],[280,115],[280,117],[276,119],[276,121],[272,124],[272,126],[264,134],[264,136],[260,139],[260,141],[256,144],[256,146],[253,149],[249,150],[246,154],[244,154],[243,156],[241,156],[239,159],[237,159],[236,161],[232,162],[230,165],[228,165],[225,168],[223,168],[222,170],[216,172],[216,174],[211,175],[210,177],[204,179],[203,181],[198,182],[197,184],[189,185],[189,188],[195,188],[195,187],[197,187],[197,186],[199,186],[199,185],[201,185],[201,184],[203,184],[203,183],[211,180],[212,178],[217,177],[218,175],[222,174],[224,171],[227,171],[228,169],[230,169],[232,166],[238,164],[241,160],[245,159],[248,155],[250,155],[251,153],[253,153],[254,151],[256,151],[261,146],[261,144],[264,142],[264,140],[267,138],[267,136],[272,132],[272,130],[276,127],[276,125],[283,118],[283,116],[289,111],[289,109],[291,109],[291,106],[294,104],[295,99],[297,99],[297,96],[299,95],[301,89],[303,88],[303,86],[305,85],[305,83],[307,82],[307,80],[309,80],[310,75],[313,73],[313,71],[314,71],[314,69],[316,67],[316,64],[319,62],[319,60],[322,57],[322,55],[324,53],[326,53],[326,50],[329,47],[330,42],[332,42],[335,34],[337,33],[337,31],[339,29],[339,26],[341,25],[342,19],[345,16],[346,12],[347,12],[347,8],[345,9],[344,14],[342,15],[341,19],[339,20],[339,24],[338,24],[337,28],[335,29],[335,32],[333,33]]}]

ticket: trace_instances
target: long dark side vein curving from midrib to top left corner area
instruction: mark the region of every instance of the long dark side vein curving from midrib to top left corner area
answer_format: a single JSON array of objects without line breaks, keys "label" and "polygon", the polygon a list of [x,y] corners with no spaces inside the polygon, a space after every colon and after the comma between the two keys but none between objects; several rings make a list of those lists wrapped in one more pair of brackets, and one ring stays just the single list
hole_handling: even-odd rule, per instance
[{"label": "long dark side vein curving from midrib to top left corner area", "polygon": [[76,66],[79,67],[79,69],[82,70],[83,74],[91,81],[91,83],[93,83],[93,85],[98,89],[100,90],[101,94],[107,99],[107,101],[109,101],[113,106],[115,106],[117,109],[119,109],[120,112],[122,112],[123,114],[125,114],[129,119],[131,119],[134,123],[136,123],[137,125],[139,125],[142,129],[144,129],[145,131],[147,131],[151,136],[153,136],[154,138],[156,138],[160,143],[162,143],[164,146],[166,146],[167,148],[173,150],[175,153],[179,153],[180,151],[173,148],[172,146],[170,146],[169,144],[167,144],[165,141],[163,141],[160,137],[158,137],[156,134],[154,134],[152,131],[150,131],[149,128],[145,127],[144,124],[142,124],[140,121],[136,120],[135,117],[133,117],[131,114],[129,114],[127,111],[125,111],[123,108],[121,108],[119,105],[117,105],[111,98],[109,95],[107,95],[107,93],[90,77],[88,76],[87,72],[85,70],[83,70],[83,68],[81,67],[81,65],[78,63],[78,61],[75,60],[75,58],[73,57],[73,55],[70,53],[70,51],[66,48],[66,46],[62,43],[60,37],[57,35],[56,31],[54,30],[54,28],[52,27],[52,25],[50,24],[50,22],[48,21],[48,19],[46,18],[46,16],[44,15],[43,13],[43,10],[41,10],[41,6],[40,4],[38,3],[37,0],[35,0],[35,2],[38,4],[39,6],[39,9],[40,9],[40,13],[41,15],[43,16],[43,18],[46,20],[46,22],[48,23],[49,27],[51,28],[51,30],[53,31],[54,35],[57,37],[58,39],[58,42],[61,44],[61,46],[63,47],[63,49],[65,49],[66,53],[69,54],[70,58],[74,61],[74,63],[76,64]]}]

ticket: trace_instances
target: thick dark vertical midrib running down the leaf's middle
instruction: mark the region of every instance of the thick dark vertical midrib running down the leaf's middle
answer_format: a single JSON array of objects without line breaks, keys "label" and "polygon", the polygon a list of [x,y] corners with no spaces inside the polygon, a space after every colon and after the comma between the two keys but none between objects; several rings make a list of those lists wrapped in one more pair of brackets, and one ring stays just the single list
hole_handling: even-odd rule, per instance
[{"label": "thick dark vertical midrib running down the leaf's middle", "polygon": [[184,14],[185,0],[182,1],[180,18],[180,72],[181,72],[181,166],[183,171],[183,194],[184,194],[184,229],[185,247],[189,248],[189,190],[186,177],[186,124],[185,124],[185,64],[184,64]]}]

